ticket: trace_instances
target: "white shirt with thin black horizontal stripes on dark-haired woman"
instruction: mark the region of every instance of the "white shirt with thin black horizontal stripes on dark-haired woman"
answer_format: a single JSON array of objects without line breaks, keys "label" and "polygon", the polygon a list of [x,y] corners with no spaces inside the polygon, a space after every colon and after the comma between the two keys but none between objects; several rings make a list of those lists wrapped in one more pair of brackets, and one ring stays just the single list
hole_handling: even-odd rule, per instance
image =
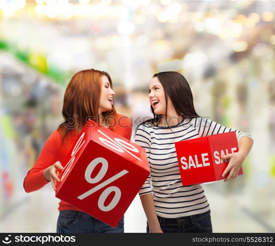
[{"label": "white shirt with thin black horizontal stripes on dark-haired woman", "polygon": [[[139,125],[135,142],[145,148],[151,170],[139,195],[152,192],[156,213],[165,218],[208,211],[209,204],[201,185],[182,186],[174,142],[231,131],[235,130],[201,117],[184,118],[179,124],[171,126],[171,129]],[[247,133],[235,132],[238,141],[244,136],[251,138]]]}]

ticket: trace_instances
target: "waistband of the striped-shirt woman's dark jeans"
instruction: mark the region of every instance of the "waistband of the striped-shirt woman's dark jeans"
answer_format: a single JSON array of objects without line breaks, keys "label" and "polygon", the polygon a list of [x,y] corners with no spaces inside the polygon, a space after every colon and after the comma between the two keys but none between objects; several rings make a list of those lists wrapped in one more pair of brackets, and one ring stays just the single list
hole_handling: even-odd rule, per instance
[{"label": "waistband of the striped-shirt woman's dark jeans", "polygon": [[196,221],[207,217],[209,214],[210,214],[210,210],[203,213],[198,213],[190,216],[177,217],[177,218],[164,218],[164,217],[158,216],[158,219],[159,219],[159,222],[162,224],[188,224],[188,223],[195,223]]}]

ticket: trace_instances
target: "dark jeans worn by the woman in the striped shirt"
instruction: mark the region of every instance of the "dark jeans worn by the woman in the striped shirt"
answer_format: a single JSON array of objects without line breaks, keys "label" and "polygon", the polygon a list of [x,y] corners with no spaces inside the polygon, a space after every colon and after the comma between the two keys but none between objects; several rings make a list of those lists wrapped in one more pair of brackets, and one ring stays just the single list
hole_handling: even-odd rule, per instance
[{"label": "dark jeans worn by the woman in the striped shirt", "polygon": [[[158,219],[163,232],[212,232],[210,210],[178,218],[163,218],[158,216]],[[147,232],[149,232],[148,222]]]}]

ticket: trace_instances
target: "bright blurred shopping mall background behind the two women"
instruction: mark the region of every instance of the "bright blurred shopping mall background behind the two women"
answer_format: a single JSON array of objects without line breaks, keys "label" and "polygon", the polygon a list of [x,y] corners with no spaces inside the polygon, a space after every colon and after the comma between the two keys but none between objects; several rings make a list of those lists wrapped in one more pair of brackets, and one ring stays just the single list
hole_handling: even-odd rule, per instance
[{"label": "bright blurred shopping mall background behind the two women", "polygon": [[[107,71],[117,111],[150,116],[155,72],[187,78],[202,116],[250,133],[244,175],[204,185],[214,232],[275,232],[275,1],[0,0],[0,232],[55,232],[51,185],[23,179],[78,70]],[[145,232],[136,197],[126,232]]]}]

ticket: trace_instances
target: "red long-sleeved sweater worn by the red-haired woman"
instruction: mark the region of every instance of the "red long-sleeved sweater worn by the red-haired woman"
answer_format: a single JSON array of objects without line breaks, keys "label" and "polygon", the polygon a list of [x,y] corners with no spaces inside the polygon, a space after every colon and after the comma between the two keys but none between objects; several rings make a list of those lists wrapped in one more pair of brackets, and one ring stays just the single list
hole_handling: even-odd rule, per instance
[{"label": "red long-sleeved sweater worn by the red-haired woman", "polygon": [[[132,123],[130,118],[118,114],[118,124],[114,127],[114,132],[122,137],[130,140],[132,135]],[[57,161],[63,163],[72,145],[75,143],[78,136],[75,131],[68,135],[66,143],[61,146],[61,136],[58,130],[55,130],[45,142],[33,168],[28,172],[24,179],[24,189],[26,192],[32,192],[41,189],[44,185],[49,183],[43,176],[43,170],[53,165]],[[61,148],[60,148],[61,146]],[[81,211],[64,201],[59,203],[59,211],[61,210],[76,210]]]}]

